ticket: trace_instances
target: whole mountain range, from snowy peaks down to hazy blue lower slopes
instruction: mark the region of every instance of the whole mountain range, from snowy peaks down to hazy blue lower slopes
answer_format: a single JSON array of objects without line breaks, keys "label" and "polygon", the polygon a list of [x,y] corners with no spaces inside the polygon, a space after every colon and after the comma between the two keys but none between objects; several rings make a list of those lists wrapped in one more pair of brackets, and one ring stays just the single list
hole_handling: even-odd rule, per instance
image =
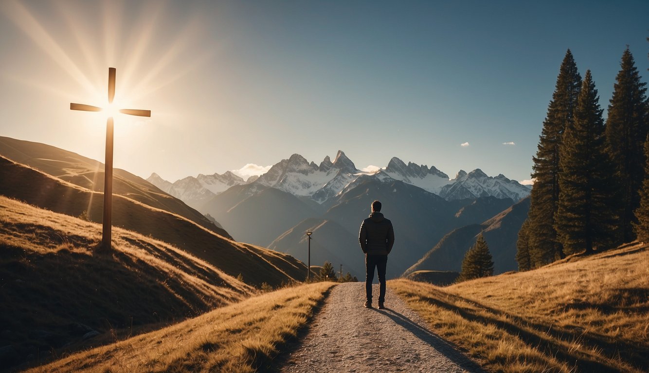
[{"label": "whole mountain range, from snowy peaks down to hazy blue lower slopes", "polygon": [[[305,263],[305,232],[312,231],[312,265],[323,260],[343,264],[343,271],[348,268],[359,278],[364,265],[358,227],[374,199],[384,203],[382,212],[395,226],[399,254],[391,256],[388,271],[396,277],[448,232],[482,225],[530,194],[530,187],[502,174],[460,170],[449,179],[434,166],[406,164],[397,157],[384,168],[365,172],[342,151],[334,161],[325,157],[320,164],[293,154],[247,181],[231,172],[175,183],[156,174],[147,180],[213,216],[236,240],[290,253]],[[466,249],[461,248],[460,262]],[[515,269],[511,262],[513,258],[503,270]],[[426,269],[457,270],[455,265]]]}]

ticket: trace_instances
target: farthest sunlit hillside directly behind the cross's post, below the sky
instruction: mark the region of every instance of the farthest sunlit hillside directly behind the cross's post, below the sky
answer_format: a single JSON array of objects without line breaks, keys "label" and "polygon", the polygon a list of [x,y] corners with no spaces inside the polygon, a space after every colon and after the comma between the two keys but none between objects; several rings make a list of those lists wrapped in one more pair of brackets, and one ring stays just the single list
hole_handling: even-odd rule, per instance
[{"label": "farthest sunlit hillside directly behind the cross's post, below the sky", "polygon": [[[38,142],[0,137],[0,155],[80,187],[95,192],[104,190],[104,165],[77,153]],[[148,181],[119,168],[114,169],[113,173],[113,194],[134,199],[156,209],[173,212],[202,227],[214,230],[212,222],[197,210],[191,209],[180,199],[162,192]],[[225,237],[229,236],[223,230],[215,232]]]}]

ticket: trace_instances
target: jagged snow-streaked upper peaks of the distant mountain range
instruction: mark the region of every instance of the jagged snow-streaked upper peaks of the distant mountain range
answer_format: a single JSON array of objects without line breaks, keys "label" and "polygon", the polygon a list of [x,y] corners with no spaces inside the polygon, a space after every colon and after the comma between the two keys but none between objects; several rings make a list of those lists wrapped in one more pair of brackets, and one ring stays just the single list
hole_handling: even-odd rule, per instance
[{"label": "jagged snow-streaked upper peaks of the distant mountain range", "polygon": [[273,165],[268,172],[257,179],[243,180],[228,171],[223,175],[188,176],[174,183],[162,179],[158,174],[151,174],[147,181],[165,192],[182,199],[191,207],[201,210],[217,194],[225,192],[234,185],[255,184],[260,187],[273,187],[293,196],[307,197],[321,205],[327,205],[345,188],[351,188],[363,177],[389,182],[393,180],[422,188],[437,194],[448,201],[470,199],[485,196],[510,198],[519,201],[530,194],[530,187],[510,180],[502,174],[496,177],[486,175],[479,168],[469,173],[459,170],[454,179],[437,170],[435,166],[404,163],[393,157],[386,167],[374,172],[358,170],[354,163],[339,150],[332,162],[329,156],[320,164],[307,161],[302,155],[293,154],[288,159]]}]

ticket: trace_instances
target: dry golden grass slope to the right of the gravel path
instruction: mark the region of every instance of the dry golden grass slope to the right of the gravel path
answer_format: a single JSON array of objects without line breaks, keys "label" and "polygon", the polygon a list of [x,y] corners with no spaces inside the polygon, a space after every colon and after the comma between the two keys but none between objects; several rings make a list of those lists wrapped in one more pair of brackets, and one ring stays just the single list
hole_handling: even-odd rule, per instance
[{"label": "dry golden grass slope to the right of the gravel path", "polygon": [[448,288],[389,286],[494,372],[649,370],[649,247],[575,255]]}]

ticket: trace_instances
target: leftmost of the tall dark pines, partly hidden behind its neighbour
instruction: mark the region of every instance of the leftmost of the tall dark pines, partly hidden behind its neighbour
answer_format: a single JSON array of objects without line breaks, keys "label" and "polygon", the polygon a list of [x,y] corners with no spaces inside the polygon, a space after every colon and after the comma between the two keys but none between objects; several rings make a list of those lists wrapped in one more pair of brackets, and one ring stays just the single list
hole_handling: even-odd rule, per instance
[{"label": "leftmost of the tall dark pines, partly hidden behind its neighbour", "polygon": [[563,247],[557,241],[554,214],[559,201],[559,146],[566,126],[572,124],[572,113],[580,91],[582,77],[570,49],[559,69],[559,76],[543,121],[536,156],[533,157],[535,179],[531,194],[530,258],[532,267],[543,266],[557,257],[563,258]]}]

